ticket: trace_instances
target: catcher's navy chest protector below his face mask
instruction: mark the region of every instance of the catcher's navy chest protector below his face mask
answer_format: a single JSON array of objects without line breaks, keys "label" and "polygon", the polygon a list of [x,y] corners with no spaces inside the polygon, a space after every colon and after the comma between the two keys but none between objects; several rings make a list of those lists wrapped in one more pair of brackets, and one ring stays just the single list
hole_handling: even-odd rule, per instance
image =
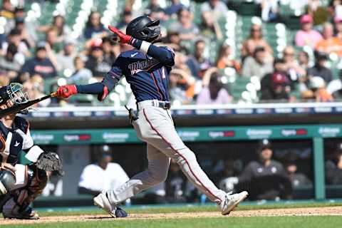
[{"label": "catcher's navy chest protector below his face mask", "polygon": [[0,161],[16,165],[20,152],[26,149],[31,136],[26,135],[28,122],[24,118],[16,117],[12,128],[6,128],[0,121]]}]

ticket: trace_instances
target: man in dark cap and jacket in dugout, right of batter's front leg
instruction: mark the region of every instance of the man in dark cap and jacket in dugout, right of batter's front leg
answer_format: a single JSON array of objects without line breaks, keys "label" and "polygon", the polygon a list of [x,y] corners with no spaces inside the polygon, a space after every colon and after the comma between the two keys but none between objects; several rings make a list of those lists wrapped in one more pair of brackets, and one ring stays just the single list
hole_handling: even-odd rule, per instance
[{"label": "man in dark cap and jacket in dugout, right of batter's front leg", "polygon": [[272,160],[269,140],[261,140],[257,147],[259,160],[249,162],[239,178],[239,185],[249,184],[252,200],[291,199],[291,182],[281,163]]}]

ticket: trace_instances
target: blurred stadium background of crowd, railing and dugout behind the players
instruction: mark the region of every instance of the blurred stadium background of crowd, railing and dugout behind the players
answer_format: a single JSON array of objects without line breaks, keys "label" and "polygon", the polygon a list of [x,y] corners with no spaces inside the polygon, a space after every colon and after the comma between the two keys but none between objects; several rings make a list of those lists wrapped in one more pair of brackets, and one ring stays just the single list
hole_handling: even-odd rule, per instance
[{"label": "blurred stadium background of crowd, railing and dugout behind the players", "polygon": [[[160,19],[175,50],[170,73],[177,131],[215,184],[249,200],[342,197],[342,1],[2,0],[0,86],[41,97],[66,83],[100,81],[130,46],[136,16]],[[36,144],[58,152],[36,207],[83,206],[145,169],[145,145],[123,105],[125,78],[100,103],[93,95],[45,100],[28,115]],[[23,163],[26,161],[22,159]],[[170,166],[167,181],[125,204],[207,202]]]}]

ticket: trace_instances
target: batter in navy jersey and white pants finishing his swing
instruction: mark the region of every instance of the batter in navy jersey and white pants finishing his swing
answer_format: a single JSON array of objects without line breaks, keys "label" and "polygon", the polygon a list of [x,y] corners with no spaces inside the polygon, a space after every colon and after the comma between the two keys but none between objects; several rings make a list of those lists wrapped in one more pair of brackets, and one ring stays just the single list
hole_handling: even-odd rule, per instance
[{"label": "batter in navy jersey and white pants finishing his swing", "polygon": [[167,90],[175,53],[171,48],[153,44],[160,38],[159,21],[140,16],[128,24],[126,34],[113,26],[108,28],[118,36],[120,43],[128,43],[135,49],[120,53],[102,82],[61,86],[57,90],[58,96],[97,94],[101,101],[125,75],[137,101],[138,118],[133,118],[132,124],[138,138],[147,143],[148,167],[117,189],[100,193],[94,198],[94,204],[115,217],[118,203],[165,181],[170,159],[173,159],[192,184],[217,203],[223,215],[229,214],[248,192],[232,195],[217,189],[199,167],[194,152],[177,135]]}]

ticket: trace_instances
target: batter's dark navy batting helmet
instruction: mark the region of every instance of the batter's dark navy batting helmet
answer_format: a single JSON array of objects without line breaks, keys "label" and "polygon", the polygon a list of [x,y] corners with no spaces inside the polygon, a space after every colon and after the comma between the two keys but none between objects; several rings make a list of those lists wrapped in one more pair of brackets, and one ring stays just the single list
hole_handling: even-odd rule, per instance
[{"label": "batter's dark navy batting helmet", "polygon": [[160,35],[158,19],[151,19],[149,16],[139,16],[130,21],[126,28],[126,34],[142,41],[154,41]]}]

